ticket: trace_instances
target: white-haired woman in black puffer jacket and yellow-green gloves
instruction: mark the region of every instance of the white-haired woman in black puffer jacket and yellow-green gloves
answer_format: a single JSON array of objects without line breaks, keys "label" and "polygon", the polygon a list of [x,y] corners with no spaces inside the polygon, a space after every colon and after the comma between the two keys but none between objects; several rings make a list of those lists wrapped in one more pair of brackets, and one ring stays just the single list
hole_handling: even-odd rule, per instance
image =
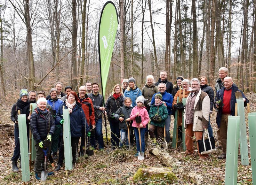
[{"label": "white-haired woman in black puffer jacket and yellow-green gloves", "polygon": [[[36,141],[36,160],[35,160],[35,174],[36,179],[40,180],[38,176],[42,171],[42,161],[44,160],[44,149],[47,150],[47,158],[50,155],[52,146],[52,135],[55,130],[55,122],[51,112],[46,109],[47,101],[45,98],[37,100],[37,108],[30,117],[31,133]],[[44,149],[43,149],[44,148]],[[48,175],[53,175],[49,172]]]}]

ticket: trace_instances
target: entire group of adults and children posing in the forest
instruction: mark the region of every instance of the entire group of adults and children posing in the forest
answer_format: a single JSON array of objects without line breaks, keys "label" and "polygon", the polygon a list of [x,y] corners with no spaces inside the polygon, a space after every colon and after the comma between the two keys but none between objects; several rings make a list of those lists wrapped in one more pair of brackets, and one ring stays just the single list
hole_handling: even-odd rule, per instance
[{"label": "entire group of adults and children posing in the forest", "polygon": [[[145,141],[148,140],[148,135],[153,144],[159,144],[156,138],[165,140],[167,143],[170,142],[171,115],[177,111],[178,136],[181,140],[183,120],[185,126],[187,149],[182,153],[189,155],[194,153],[192,139],[194,135],[196,140],[201,140],[203,131],[207,128],[209,137],[213,136],[210,123],[210,114],[212,114],[213,108],[216,109],[218,126],[219,146],[217,148],[222,148],[222,154],[218,158],[226,158],[228,115],[235,115],[235,92],[240,91],[233,83],[232,78],[228,77],[228,69],[225,67],[219,69],[220,78],[216,81],[215,86],[216,96],[214,96],[214,90],[208,85],[207,77],[188,80],[180,76],[177,77],[174,85],[166,77],[167,73],[161,71],[160,78],[155,83],[154,77],[148,75],[146,84],[141,90],[136,85],[134,78],[123,79],[122,86],[116,84],[113,87],[105,107],[102,95],[99,93],[98,83],[87,82],[85,86],[79,88],[78,93],[74,92],[71,86],[67,86],[65,93],[62,93],[62,83],[57,82],[47,97],[44,91],[28,92],[27,89],[21,89],[20,99],[13,105],[11,112],[11,119],[15,123],[13,171],[19,171],[17,166],[17,160],[20,158],[18,110],[21,114],[26,114],[28,137],[30,128],[36,141],[36,179],[40,179],[39,172],[42,170],[44,147],[48,149],[50,162],[58,159],[56,170],[60,170],[62,166],[64,159],[62,127],[65,122],[62,116],[63,108],[68,109],[70,117],[73,165],[76,163],[77,154],[84,155],[87,137],[94,149],[99,145],[99,150],[104,150],[103,115],[109,121],[112,149],[128,148],[129,144],[133,145],[135,141],[137,148],[135,156],[138,156],[140,152],[145,152]],[[244,106],[246,106],[249,101],[243,92],[242,95]],[[187,98],[186,104],[182,104],[182,98]],[[223,103],[222,106],[220,106],[219,100]],[[31,115],[30,103],[37,103],[37,108]],[[141,141],[139,141],[139,135]],[[80,138],[81,144],[78,152]],[[59,156],[57,155],[58,150]],[[198,153],[199,160],[208,158],[207,154],[201,155],[199,150]],[[52,174],[53,172],[49,173],[49,175]]]}]

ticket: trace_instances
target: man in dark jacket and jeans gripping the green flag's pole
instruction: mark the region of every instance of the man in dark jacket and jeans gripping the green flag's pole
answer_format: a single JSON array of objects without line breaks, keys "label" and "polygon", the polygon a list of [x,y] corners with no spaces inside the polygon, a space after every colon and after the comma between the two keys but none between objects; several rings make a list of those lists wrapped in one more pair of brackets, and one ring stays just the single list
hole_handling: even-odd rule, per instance
[{"label": "man in dark jacket and jeans gripping the green flag's pole", "polygon": [[[88,94],[92,99],[94,115],[95,115],[95,136],[98,138],[99,149],[103,150],[103,135],[102,135],[102,113],[107,114],[105,107],[103,107],[103,98],[99,93],[99,84],[92,84],[92,93]],[[96,147],[96,146],[94,146]]]}]

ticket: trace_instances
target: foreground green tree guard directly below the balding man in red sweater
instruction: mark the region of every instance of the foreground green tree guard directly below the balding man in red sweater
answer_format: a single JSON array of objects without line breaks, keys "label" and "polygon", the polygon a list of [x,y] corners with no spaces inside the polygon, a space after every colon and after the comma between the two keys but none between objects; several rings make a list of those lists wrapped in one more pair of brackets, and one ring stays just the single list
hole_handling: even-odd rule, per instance
[{"label": "foreground green tree guard directly below the balding man in red sweater", "polygon": [[238,139],[240,116],[228,116],[225,184],[237,184]]}]

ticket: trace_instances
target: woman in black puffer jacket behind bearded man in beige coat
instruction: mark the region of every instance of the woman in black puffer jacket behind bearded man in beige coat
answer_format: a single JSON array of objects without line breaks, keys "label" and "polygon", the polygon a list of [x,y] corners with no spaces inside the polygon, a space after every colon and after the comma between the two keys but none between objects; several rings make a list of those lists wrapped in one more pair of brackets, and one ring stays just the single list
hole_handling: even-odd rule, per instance
[{"label": "woman in black puffer jacket behind bearded man in beige coat", "polygon": [[[209,95],[210,103],[211,103],[210,112],[209,112],[209,115],[210,115],[212,114],[212,109],[213,109],[214,91],[210,86],[208,86],[208,80],[205,76],[200,78],[200,87],[202,91],[206,92]],[[209,116],[209,122],[208,122],[208,132],[209,132],[209,137],[213,137],[212,127],[210,123],[210,116]]]}]

